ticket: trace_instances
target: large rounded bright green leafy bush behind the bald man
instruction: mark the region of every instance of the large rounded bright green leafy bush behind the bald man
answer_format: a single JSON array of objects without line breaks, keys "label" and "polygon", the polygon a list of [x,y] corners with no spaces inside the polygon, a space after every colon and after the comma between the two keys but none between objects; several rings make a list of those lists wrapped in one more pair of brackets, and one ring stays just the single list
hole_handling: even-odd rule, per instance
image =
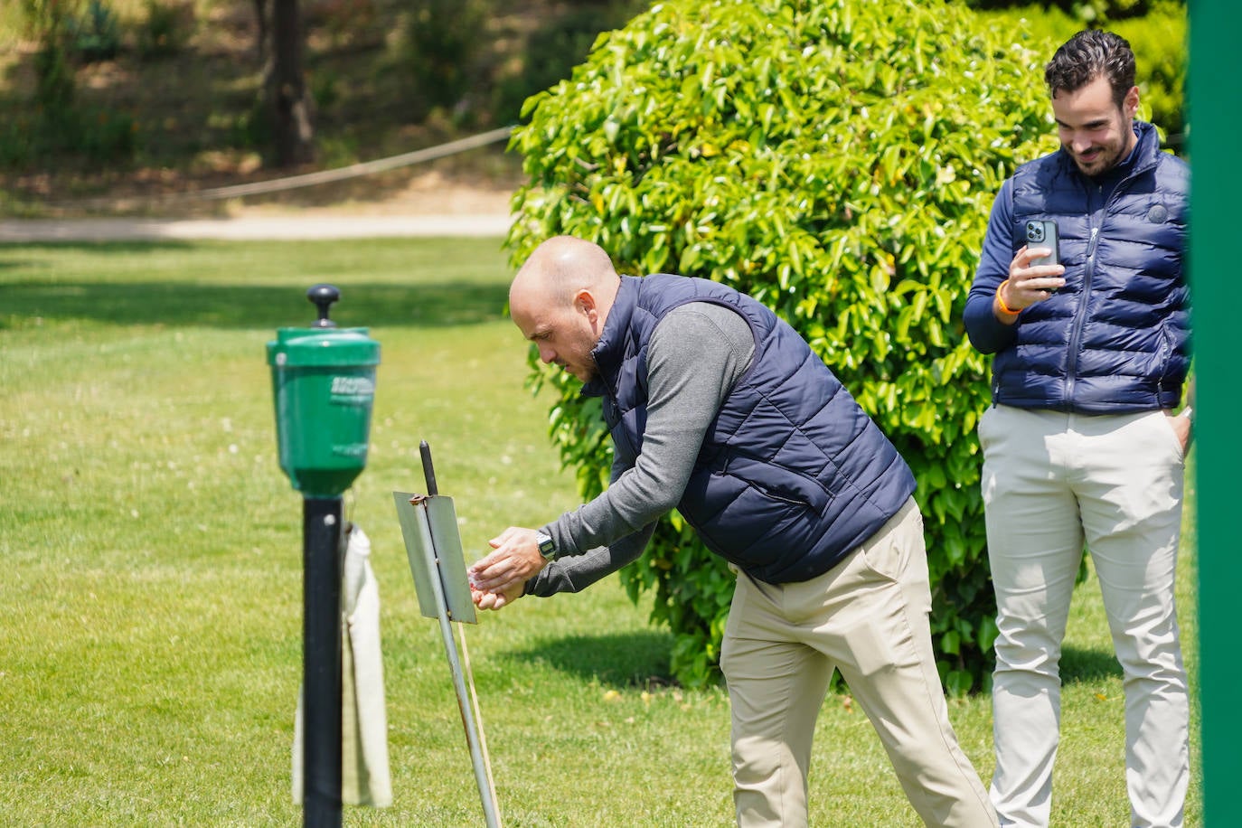
[{"label": "large rounded bright green leafy bush behind the bald man", "polygon": [[[627,273],[668,271],[765,302],[811,343],[919,482],[946,685],[986,684],[995,638],[977,415],[986,365],[961,310],[991,200],[1056,146],[1042,63],[960,5],[672,0],[527,103],[514,262],[551,235]],[[606,484],[597,403],[554,384],[551,437],[584,498]],[[672,669],[714,678],[733,577],[678,515],[623,572],[655,592]]]}]

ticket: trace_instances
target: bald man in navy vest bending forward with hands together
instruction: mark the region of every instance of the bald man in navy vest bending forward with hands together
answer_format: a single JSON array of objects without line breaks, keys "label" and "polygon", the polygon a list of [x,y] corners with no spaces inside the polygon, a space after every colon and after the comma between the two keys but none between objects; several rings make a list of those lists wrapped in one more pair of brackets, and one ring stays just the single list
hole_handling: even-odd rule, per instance
[{"label": "bald man in navy vest bending forward with hands together", "polygon": [[720,668],[738,824],[805,826],[833,669],[928,826],[995,826],[949,724],[914,478],[797,333],[732,288],[620,277],[590,242],[540,245],[509,310],[546,364],[599,396],[611,484],[471,567],[474,602],[578,592],[637,559],[677,509],[738,575]]}]

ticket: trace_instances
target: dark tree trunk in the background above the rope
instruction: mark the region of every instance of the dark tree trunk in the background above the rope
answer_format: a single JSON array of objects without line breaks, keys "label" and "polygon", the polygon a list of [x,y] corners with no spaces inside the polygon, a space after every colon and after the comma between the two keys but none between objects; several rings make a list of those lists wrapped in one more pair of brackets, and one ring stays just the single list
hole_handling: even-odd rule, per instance
[{"label": "dark tree trunk in the background above the rope", "polygon": [[278,168],[314,160],[310,99],[302,77],[304,40],[298,0],[274,0],[267,99],[272,113],[273,161]]}]

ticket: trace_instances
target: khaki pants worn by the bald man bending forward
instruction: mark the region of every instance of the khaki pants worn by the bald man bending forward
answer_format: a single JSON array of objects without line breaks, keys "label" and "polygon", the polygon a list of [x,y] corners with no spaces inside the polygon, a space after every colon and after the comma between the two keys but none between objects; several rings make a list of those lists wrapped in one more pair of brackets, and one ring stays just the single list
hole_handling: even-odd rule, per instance
[{"label": "khaki pants worn by the bald man bending forward", "polygon": [[833,668],[928,826],[996,824],[949,724],[930,608],[923,519],[913,499],[817,578],[771,585],[738,575],[720,667],[733,708],[739,826],[807,824],[811,739]]}]

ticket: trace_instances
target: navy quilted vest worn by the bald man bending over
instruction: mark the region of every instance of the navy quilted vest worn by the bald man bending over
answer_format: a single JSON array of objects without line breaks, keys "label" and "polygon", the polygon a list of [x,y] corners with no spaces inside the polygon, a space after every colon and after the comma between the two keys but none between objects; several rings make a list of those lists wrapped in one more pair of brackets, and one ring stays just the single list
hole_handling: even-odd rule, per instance
[{"label": "navy quilted vest worn by the bald man bending over", "polygon": [[755,336],[750,367],[709,426],[678,511],[703,542],[769,583],[828,571],[893,516],[914,475],[797,333],[732,288],[682,276],[622,277],[594,351],[619,459],[642,449],[647,344],[688,302],[741,314]]}]

